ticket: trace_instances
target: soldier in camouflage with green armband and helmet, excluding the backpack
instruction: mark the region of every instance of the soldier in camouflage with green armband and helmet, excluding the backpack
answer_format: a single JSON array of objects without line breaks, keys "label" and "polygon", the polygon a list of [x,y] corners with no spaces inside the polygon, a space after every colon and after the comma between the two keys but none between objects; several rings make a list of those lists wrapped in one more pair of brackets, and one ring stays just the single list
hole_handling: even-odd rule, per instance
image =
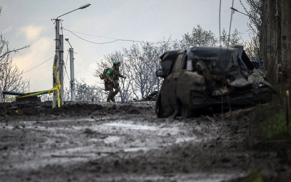
[{"label": "soldier in camouflage with green armband and helmet, excluding the backpack", "polygon": [[[114,96],[120,90],[120,87],[119,87],[119,84],[118,84],[119,77],[126,79],[126,76],[123,76],[119,72],[119,66],[120,65],[121,65],[120,61],[115,61],[113,63],[113,66],[111,68],[109,68],[108,72],[106,73],[106,79],[109,80],[107,82],[111,83],[111,84],[108,84],[109,94],[108,94],[108,97],[107,97],[107,102],[110,102],[110,100],[112,102],[115,102]],[[115,89],[115,91],[113,91],[113,88]]]}]

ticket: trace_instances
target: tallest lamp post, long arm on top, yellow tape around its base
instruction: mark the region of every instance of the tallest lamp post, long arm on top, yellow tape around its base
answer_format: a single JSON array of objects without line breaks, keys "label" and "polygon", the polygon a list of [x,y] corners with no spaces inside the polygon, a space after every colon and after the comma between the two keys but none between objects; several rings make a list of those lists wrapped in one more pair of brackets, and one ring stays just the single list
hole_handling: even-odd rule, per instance
[{"label": "tallest lamp post, long arm on top, yellow tape around its base", "polygon": [[[90,6],[91,4],[86,4],[84,6],[81,6],[79,8],[77,8],[76,10],[79,10],[79,9],[84,9],[84,8],[87,8],[88,6]],[[73,11],[76,11],[76,10],[72,10],[68,13],[65,13],[65,14],[69,14]],[[64,85],[63,85],[63,66],[64,66],[64,60],[63,60],[63,50],[62,50],[62,45],[63,45],[63,38],[62,38],[62,35],[60,36],[60,19],[58,19],[59,17],[61,16],[64,16],[65,14],[63,15],[60,15],[58,16],[56,19],[53,19],[55,20],[54,23],[56,23],[56,56],[57,56],[57,60],[56,60],[56,69],[58,70],[59,72],[59,80],[60,80],[60,85],[61,85],[61,89],[60,89],[60,105],[64,105]],[[61,39],[60,39],[61,37]],[[55,84],[55,82],[54,82]],[[55,85],[53,85],[55,87]],[[57,100],[57,93],[56,93],[56,90],[53,91],[53,98],[52,98],[52,108],[56,107],[56,100]]]}]

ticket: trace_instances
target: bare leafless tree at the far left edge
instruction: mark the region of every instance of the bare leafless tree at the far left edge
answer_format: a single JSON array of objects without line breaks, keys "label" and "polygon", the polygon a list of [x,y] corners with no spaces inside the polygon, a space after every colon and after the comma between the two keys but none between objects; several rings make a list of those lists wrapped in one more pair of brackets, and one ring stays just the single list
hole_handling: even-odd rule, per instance
[{"label": "bare leafless tree at the far left edge", "polygon": [[[0,7],[0,14],[1,10],[2,8]],[[17,49],[14,48],[13,50],[10,50],[8,45],[9,42],[5,38],[2,38],[2,33],[0,33],[0,90],[15,92],[29,91],[29,80],[23,80],[23,70],[20,71],[16,65],[12,64],[10,53],[19,53],[19,50],[28,48],[30,45]],[[2,92],[0,96],[4,99]]]}]

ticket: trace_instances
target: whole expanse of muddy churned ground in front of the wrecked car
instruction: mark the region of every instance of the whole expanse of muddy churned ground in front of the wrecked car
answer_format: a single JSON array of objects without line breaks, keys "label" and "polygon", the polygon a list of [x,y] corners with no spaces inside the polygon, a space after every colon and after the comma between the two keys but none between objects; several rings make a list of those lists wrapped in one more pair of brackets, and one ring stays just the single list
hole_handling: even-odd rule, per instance
[{"label": "whole expanse of muddy churned ground in front of the wrecked car", "polygon": [[0,104],[0,181],[291,181],[290,150],[250,149],[253,109],[157,118],[155,102]]}]

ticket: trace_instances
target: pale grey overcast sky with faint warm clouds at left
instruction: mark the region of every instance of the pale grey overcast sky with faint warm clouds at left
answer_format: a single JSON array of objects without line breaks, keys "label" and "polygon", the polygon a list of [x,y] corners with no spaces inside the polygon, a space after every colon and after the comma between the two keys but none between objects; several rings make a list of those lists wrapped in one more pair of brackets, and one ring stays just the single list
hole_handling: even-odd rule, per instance
[{"label": "pale grey overcast sky with faint warm clouds at left", "polygon": [[[103,43],[124,39],[157,42],[168,39],[181,40],[193,27],[201,25],[219,37],[219,0],[1,0],[0,31],[9,41],[9,48],[29,48],[20,54],[10,54],[13,63],[23,70],[24,79],[30,80],[30,91],[52,88],[52,64],[55,55],[55,24],[51,19],[68,13],[87,3],[91,6],[66,14],[62,19],[64,29],[77,32],[88,41]],[[228,32],[231,22],[232,0],[221,1],[221,30]],[[244,12],[239,0],[233,7]],[[231,32],[236,29],[248,39],[248,17],[236,12],[231,22]],[[60,32],[61,34],[61,32]],[[86,35],[89,34],[89,35]],[[85,79],[89,85],[100,81],[93,76],[96,62],[115,50],[130,48],[133,41],[116,41],[94,44],[84,41],[69,31],[64,37],[74,48],[75,78]],[[93,35],[93,36],[91,36]],[[111,38],[102,38],[111,37]],[[64,41],[64,61],[68,60],[64,75],[64,87],[69,88],[70,65],[68,49]],[[45,62],[46,61],[46,62]],[[44,62],[44,63],[43,63]],[[41,64],[43,63],[43,64]],[[40,66],[37,66],[41,64]],[[37,66],[36,68],[34,68]],[[33,68],[33,69],[32,69]],[[30,70],[31,69],[31,70]],[[28,71],[30,70],[30,71]]]}]

